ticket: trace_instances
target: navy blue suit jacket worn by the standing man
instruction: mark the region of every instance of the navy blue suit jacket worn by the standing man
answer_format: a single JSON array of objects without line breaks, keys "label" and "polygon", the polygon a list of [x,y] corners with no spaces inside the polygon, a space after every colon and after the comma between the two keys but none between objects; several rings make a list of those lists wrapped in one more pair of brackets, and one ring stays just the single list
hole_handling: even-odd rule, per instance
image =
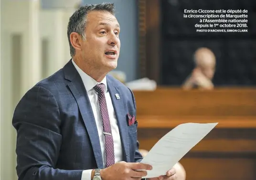
[{"label": "navy blue suit jacket worn by the standing man", "polygon": [[[136,116],[134,95],[109,75],[107,87],[117,116],[123,160],[139,162],[138,124],[128,126],[127,117],[128,113]],[[81,180],[84,169],[103,169],[94,114],[71,61],[21,98],[12,124],[17,130],[19,180]]]}]

